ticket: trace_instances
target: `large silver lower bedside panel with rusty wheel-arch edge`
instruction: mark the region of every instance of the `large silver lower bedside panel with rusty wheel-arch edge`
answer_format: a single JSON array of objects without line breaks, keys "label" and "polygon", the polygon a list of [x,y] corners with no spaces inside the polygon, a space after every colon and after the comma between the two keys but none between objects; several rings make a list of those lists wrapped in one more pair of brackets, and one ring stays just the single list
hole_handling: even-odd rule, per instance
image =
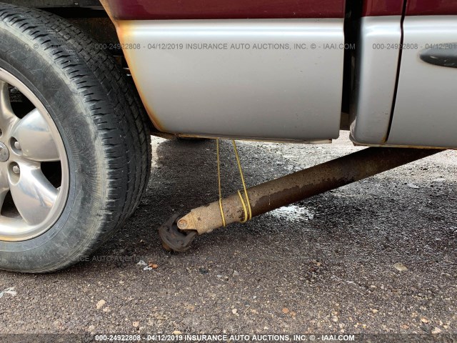
[{"label": "large silver lower bedside panel with rusty wheel-arch edge", "polygon": [[118,32],[123,44],[140,46],[124,51],[162,131],[273,140],[338,136],[343,19],[120,21]]}]

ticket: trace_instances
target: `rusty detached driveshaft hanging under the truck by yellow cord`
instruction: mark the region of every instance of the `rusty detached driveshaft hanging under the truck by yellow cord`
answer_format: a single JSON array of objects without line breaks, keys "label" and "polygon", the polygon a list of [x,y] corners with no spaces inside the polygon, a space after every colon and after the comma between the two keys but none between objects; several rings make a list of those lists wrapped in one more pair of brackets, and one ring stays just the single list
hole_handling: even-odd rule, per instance
[{"label": "rusty detached driveshaft hanging under the truck by yellow cord", "polygon": [[[436,154],[442,149],[407,149],[407,148],[368,148],[354,152],[323,164],[318,164],[300,172],[286,175],[279,179],[259,184],[248,189],[251,202],[252,217],[266,213],[278,207],[327,192],[331,189],[351,184],[352,182],[386,172],[397,166]],[[246,202],[246,199],[245,199]],[[243,206],[238,194],[232,194],[222,199],[222,207],[226,224],[241,222],[244,218]],[[189,246],[191,239],[183,243],[184,232],[204,234],[222,227],[219,202],[212,202],[202,207],[192,209],[181,219],[176,218],[174,230],[161,227],[160,233],[166,245],[171,249],[182,251]],[[181,234],[176,232],[181,230]],[[178,230],[178,231],[179,231]],[[166,237],[174,231],[181,237],[181,245],[174,244],[174,239]],[[192,237],[193,238],[194,234]],[[186,247],[183,246],[186,245]]]}]

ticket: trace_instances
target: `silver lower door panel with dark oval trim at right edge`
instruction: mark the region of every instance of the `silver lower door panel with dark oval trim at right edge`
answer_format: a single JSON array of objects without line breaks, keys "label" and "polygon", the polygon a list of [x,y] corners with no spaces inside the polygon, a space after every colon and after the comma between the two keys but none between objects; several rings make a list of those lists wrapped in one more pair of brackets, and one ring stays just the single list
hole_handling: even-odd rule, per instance
[{"label": "silver lower door panel with dark oval trim at right edge", "polygon": [[395,110],[387,144],[457,147],[457,69],[426,63],[432,44],[457,43],[457,16],[411,16],[403,23]]}]

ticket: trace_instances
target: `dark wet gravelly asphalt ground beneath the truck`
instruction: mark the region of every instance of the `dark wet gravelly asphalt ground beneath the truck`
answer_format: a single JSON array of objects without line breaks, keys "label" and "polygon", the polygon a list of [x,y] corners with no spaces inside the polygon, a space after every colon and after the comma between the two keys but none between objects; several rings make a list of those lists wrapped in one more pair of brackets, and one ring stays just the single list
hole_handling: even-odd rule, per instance
[{"label": "dark wet gravelly asphalt ground beneath the truck", "polygon": [[[354,147],[239,142],[248,184]],[[445,151],[197,237],[156,229],[217,197],[214,141],[153,139],[149,191],[88,261],[0,272],[0,333],[457,333],[457,153]],[[221,142],[224,194],[241,188]],[[156,264],[144,270],[138,262]],[[11,294],[12,293],[12,294]]]}]

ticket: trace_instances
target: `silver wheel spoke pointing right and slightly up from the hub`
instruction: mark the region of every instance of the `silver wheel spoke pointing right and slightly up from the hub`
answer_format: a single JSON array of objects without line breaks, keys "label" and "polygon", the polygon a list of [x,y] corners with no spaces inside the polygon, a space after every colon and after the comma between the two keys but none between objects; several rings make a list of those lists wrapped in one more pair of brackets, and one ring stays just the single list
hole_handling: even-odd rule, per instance
[{"label": "silver wheel spoke pointing right and slightly up from the hub", "polygon": [[38,109],[29,112],[11,130],[22,156],[33,161],[59,161],[59,151],[46,120]]}]

